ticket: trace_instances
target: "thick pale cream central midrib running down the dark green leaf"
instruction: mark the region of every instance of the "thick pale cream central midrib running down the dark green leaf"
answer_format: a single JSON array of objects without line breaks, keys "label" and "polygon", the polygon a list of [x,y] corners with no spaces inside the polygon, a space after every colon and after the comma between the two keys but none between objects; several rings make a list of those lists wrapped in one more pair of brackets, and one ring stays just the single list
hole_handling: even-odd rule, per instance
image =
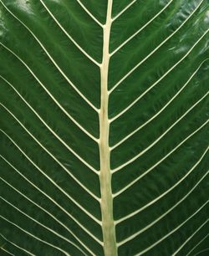
[{"label": "thick pale cream central midrib running down the dark green leaf", "polygon": [[100,66],[101,79],[101,105],[99,111],[99,155],[100,155],[100,191],[101,191],[101,213],[102,231],[104,239],[104,255],[117,256],[117,246],[115,238],[115,223],[113,218],[113,197],[111,189],[110,173],[110,146],[109,131],[110,121],[108,119],[108,69],[110,62],[110,28],[112,1],[108,1],[107,18],[103,27],[103,59]]}]

